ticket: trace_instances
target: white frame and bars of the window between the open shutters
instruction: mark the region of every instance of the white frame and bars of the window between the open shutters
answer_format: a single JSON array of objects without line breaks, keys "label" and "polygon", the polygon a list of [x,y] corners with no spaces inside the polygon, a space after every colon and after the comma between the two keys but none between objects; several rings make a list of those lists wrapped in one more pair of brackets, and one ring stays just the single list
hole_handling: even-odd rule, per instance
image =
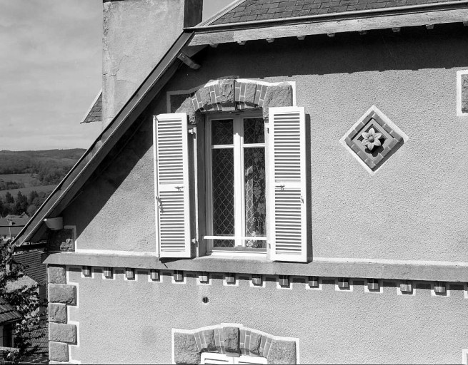
[{"label": "white frame and bars of the window between the open shutters", "polygon": [[[266,233],[265,236],[258,237],[256,240],[267,242],[266,250],[249,250],[244,247],[244,240],[251,240],[252,237],[245,237],[245,192],[244,192],[244,153],[240,153],[243,148],[247,147],[263,147],[265,151],[265,196],[268,197],[268,125],[264,123],[264,143],[249,143],[244,144],[243,139],[243,120],[245,118],[262,118],[262,111],[243,111],[237,113],[216,113],[213,115],[206,115],[205,120],[205,173],[206,173],[206,232],[213,232],[213,200],[212,194],[212,165],[211,165],[211,150],[221,148],[234,149],[234,236],[213,236],[205,235],[206,240],[206,255],[236,255],[248,257],[267,257],[268,250],[268,227],[269,227],[269,207],[266,207]],[[211,147],[211,121],[212,120],[233,120],[233,145],[216,145],[215,148]],[[267,199],[266,199],[267,204]],[[242,232],[242,235],[239,234]],[[214,247],[214,238],[224,240],[234,240],[234,247]]]}]

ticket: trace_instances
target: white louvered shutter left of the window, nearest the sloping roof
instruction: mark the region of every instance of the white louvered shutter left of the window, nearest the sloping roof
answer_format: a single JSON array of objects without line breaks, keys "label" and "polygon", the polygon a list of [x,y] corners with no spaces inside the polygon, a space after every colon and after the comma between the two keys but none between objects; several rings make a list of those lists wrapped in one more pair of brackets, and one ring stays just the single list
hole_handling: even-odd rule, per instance
[{"label": "white louvered shutter left of the window, nearest the sloping roof", "polygon": [[190,257],[186,113],[156,115],[154,145],[159,257]]}]

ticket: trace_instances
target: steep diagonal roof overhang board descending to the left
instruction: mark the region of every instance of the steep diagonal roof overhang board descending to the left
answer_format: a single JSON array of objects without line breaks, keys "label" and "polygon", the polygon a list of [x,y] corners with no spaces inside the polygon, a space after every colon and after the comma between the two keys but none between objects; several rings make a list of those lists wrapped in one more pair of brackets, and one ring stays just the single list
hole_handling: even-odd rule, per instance
[{"label": "steep diagonal roof overhang board descending to the left", "polygon": [[143,113],[146,106],[151,103],[171,76],[174,75],[181,65],[181,61],[177,56],[181,49],[187,46],[192,35],[193,33],[187,32],[179,36],[166,55],[135,91],[134,95],[121,108],[116,117],[94,141],[93,145],[81,156],[44,204],[39,207],[39,210],[31,217],[23,230],[19,232],[13,242],[14,245],[19,246],[22,242],[31,240],[36,232],[44,230],[44,218],[59,215],[66,205],[71,202],[114,145],[129,130],[136,118]]}]

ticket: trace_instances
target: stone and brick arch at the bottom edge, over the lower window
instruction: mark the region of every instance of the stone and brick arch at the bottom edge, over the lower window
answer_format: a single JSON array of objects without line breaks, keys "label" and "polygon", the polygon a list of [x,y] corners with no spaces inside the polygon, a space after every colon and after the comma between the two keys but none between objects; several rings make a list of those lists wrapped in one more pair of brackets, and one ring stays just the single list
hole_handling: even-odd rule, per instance
[{"label": "stone and brick arch at the bottom edge, over the lower window", "polygon": [[268,364],[296,364],[297,339],[279,337],[242,324],[173,330],[174,362],[199,364],[202,352],[227,356],[261,356]]}]

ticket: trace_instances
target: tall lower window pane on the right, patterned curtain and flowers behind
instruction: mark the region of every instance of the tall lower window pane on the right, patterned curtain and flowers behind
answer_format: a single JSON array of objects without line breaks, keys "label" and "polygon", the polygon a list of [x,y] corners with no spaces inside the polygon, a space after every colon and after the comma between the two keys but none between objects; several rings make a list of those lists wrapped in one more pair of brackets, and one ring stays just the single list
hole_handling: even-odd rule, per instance
[{"label": "tall lower window pane on the right, patterned curtain and flowers behind", "polygon": [[[244,173],[245,235],[247,237],[264,237],[266,235],[265,221],[267,213],[265,206],[264,148],[244,148]],[[263,242],[259,241],[260,247],[262,247]]]}]

